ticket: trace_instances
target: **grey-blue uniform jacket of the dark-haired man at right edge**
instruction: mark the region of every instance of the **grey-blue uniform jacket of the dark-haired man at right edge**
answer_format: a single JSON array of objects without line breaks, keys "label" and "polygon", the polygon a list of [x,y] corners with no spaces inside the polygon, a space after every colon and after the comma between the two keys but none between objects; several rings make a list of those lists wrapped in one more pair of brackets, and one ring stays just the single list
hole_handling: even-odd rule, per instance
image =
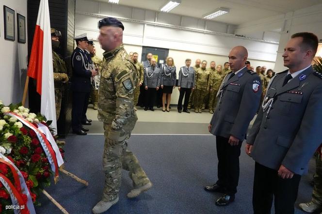
[{"label": "grey-blue uniform jacket of the dark-haired man at right edge", "polygon": [[302,175],[322,143],[322,74],[309,67],[283,86],[287,72],[272,78],[247,143],[259,164]]}]

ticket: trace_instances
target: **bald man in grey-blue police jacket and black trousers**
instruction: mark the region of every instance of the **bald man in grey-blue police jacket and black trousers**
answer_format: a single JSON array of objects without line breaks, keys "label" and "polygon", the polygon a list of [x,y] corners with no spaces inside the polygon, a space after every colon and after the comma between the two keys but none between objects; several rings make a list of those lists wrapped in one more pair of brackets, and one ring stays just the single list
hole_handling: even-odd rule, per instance
[{"label": "bald man in grey-blue police jacket and black trousers", "polygon": [[218,181],[206,186],[209,192],[224,193],[216,200],[225,206],[235,200],[239,180],[239,156],[242,141],[260,100],[259,76],[247,70],[247,49],[236,46],[229,52],[229,72],[219,89],[217,107],[212,115],[209,132],[216,136]]}]

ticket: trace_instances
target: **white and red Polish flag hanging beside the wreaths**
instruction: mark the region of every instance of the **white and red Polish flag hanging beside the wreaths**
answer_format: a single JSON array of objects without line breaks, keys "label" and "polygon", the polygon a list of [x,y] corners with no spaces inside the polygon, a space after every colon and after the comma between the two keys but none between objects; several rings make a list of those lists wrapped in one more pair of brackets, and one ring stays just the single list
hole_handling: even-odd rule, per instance
[{"label": "white and red Polish flag hanging beside the wreaths", "polygon": [[32,52],[27,75],[37,81],[36,91],[41,96],[40,113],[57,134],[54,75],[48,0],[40,0],[36,28],[33,35]]}]

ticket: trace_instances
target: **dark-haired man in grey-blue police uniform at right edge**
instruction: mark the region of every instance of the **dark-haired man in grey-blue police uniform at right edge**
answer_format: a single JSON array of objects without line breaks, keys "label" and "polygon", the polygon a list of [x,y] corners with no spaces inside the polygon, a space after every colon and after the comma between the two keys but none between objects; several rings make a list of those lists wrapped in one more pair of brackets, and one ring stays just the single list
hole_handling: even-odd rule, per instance
[{"label": "dark-haired man in grey-blue police uniform at right edge", "polygon": [[254,214],[293,214],[301,175],[322,142],[322,73],[311,62],[318,37],[295,33],[249,132],[246,153],[255,161]]}]

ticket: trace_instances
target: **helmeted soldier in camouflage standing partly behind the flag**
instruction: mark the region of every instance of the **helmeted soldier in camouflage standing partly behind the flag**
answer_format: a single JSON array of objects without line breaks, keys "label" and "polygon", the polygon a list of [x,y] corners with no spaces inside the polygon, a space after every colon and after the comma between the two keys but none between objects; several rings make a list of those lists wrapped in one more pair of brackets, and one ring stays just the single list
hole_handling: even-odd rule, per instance
[{"label": "helmeted soldier in camouflage standing partly behind the flag", "polygon": [[[65,85],[68,83],[67,68],[64,59],[57,53],[59,50],[59,40],[62,37],[60,31],[56,31],[54,28],[50,29],[51,33],[51,47],[52,47],[52,64],[54,70],[54,85],[55,85],[55,104],[56,104],[56,119],[58,120],[62,98],[65,89]],[[57,143],[64,144],[65,141],[57,140]]]}]

